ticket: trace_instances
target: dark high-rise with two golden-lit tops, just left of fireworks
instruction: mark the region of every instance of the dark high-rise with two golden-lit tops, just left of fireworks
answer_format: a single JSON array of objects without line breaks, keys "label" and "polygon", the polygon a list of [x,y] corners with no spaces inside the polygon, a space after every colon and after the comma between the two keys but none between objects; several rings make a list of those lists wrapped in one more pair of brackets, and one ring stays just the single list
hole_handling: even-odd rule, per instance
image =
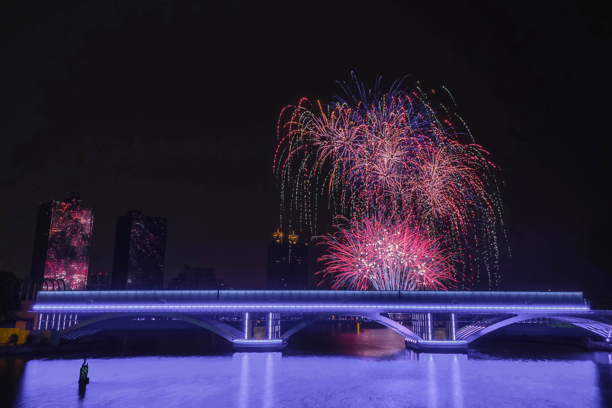
[{"label": "dark high-rise with two golden-lit tops, just left of fireworks", "polygon": [[308,286],[308,244],[298,243],[293,232],[286,240],[280,229],[268,243],[267,287],[271,290],[304,290]]}]

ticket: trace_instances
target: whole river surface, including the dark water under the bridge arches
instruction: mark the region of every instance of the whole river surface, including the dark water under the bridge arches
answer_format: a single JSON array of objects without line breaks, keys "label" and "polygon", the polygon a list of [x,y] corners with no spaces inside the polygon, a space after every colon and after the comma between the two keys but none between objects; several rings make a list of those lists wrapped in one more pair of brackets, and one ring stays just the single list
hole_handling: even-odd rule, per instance
[{"label": "whole river surface, including the dark water under the bridge arches", "polygon": [[89,358],[84,391],[82,359],[3,358],[0,380],[13,391],[3,398],[61,408],[612,406],[606,352],[506,342],[417,354],[387,328],[314,327],[292,339],[283,352]]}]

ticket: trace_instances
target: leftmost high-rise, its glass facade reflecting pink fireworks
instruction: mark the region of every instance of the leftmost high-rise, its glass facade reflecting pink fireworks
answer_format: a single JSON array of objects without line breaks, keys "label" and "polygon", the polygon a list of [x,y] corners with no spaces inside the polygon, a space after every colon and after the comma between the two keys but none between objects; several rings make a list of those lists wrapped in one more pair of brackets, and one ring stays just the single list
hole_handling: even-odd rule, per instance
[{"label": "leftmost high-rise, its glass facade reflecting pink fireworks", "polygon": [[81,204],[79,193],[40,204],[30,277],[62,279],[67,289],[84,290],[93,223],[94,207]]}]

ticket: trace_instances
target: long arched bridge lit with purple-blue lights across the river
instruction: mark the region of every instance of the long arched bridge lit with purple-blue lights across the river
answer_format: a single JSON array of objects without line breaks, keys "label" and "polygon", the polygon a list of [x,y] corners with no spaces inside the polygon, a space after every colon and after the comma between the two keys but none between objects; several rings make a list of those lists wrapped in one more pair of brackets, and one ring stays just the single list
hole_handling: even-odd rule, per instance
[{"label": "long arched bridge lit with purple-blue lights across the river", "polygon": [[465,350],[486,333],[534,319],[612,337],[610,312],[591,310],[581,292],[44,291],[32,311],[36,328],[58,339],[157,319],[206,328],[239,349],[282,349],[301,328],[340,316],[379,322],[413,349]]}]

